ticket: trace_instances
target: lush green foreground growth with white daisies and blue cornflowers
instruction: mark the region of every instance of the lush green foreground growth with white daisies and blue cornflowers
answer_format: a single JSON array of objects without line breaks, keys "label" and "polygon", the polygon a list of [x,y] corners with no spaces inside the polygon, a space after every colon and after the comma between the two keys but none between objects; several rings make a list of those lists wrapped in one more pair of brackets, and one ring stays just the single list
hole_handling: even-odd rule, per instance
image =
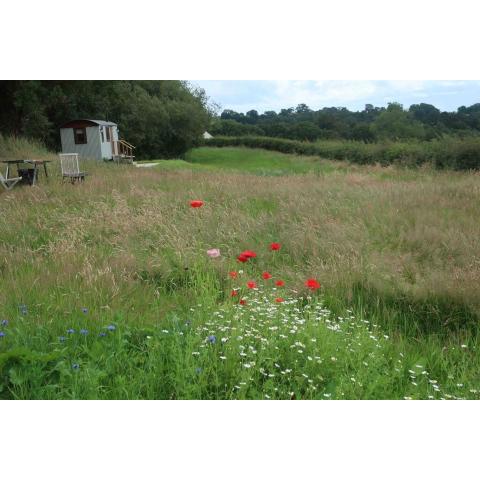
[{"label": "lush green foreground growth with white daisies and blue cornflowers", "polygon": [[471,350],[420,352],[350,311],[333,315],[321,297],[278,304],[276,294],[261,286],[246,305],[199,304],[144,327],[96,310],[27,326],[24,312],[4,328],[0,396],[477,398]]}]

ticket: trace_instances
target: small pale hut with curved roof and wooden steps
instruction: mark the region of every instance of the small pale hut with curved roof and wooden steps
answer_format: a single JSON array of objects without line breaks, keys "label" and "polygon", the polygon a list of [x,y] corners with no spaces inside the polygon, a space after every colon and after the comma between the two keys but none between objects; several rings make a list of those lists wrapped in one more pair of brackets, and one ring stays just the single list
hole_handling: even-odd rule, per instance
[{"label": "small pale hut with curved roof and wooden steps", "polygon": [[60,127],[63,153],[96,160],[133,159],[135,148],[118,137],[116,123],[104,120],[72,120]]}]

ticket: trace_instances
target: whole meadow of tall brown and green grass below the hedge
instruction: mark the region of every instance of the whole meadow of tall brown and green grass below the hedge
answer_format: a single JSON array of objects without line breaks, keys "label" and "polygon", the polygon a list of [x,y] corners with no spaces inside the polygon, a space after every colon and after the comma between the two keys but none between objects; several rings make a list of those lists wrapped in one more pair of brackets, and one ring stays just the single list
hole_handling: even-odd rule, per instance
[{"label": "whole meadow of tall brown and green grass below the hedge", "polygon": [[158,163],[0,191],[0,398],[479,398],[479,174]]}]

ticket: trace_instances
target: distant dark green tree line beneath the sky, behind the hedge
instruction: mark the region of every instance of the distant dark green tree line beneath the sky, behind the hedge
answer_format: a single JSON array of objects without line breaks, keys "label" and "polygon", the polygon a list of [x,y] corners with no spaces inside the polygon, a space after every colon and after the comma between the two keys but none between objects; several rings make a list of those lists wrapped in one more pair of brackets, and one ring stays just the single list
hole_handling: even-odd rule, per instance
[{"label": "distant dark green tree line beneath the sky, behind the hedge", "polygon": [[302,103],[279,113],[266,111],[246,114],[223,110],[209,132],[222,136],[265,136],[301,141],[327,139],[357,140],[366,143],[407,139],[433,140],[445,135],[469,136],[480,132],[480,103],[442,112],[433,105],[420,103],[405,109],[400,103],[387,107],[365,105],[353,112],[344,107],[326,107],[314,111]]}]

